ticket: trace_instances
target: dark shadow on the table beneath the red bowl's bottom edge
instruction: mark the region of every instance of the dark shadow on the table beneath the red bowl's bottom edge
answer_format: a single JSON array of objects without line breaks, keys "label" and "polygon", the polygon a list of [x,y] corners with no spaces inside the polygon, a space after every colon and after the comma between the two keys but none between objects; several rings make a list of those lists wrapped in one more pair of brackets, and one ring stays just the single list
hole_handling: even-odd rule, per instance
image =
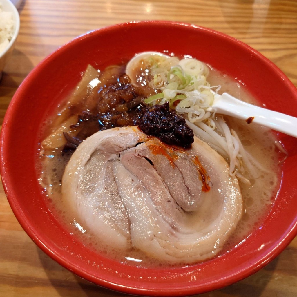
[{"label": "dark shadow on the table beneath the red bowl's bottom edge", "polygon": [[[37,248],[38,249],[38,248]],[[290,249],[286,250],[290,252]],[[60,266],[40,249],[38,249],[38,255],[40,262],[47,274],[48,281],[55,288],[59,296],[63,297],[98,297],[98,296],[131,296],[124,293],[114,292],[112,290],[105,289],[94,285],[91,282],[82,279],[75,274],[71,273],[67,269]],[[273,273],[278,266],[280,256],[274,259],[271,263],[261,269],[261,271],[253,274],[252,276],[237,282],[228,287],[220,290],[212,291],[209,293],[199,294],[195,296],[199,297],[219,297],[219,296],[253,296],[259,297],[262,295],[267,284],[273,278]],[[281,261],[282,262],[282,261]],[[285,266],[280,263],[280,266]],[[287,264],[286,264],[287,265]],[[275,292],[270,292],[275,293]],[[275,295],[275,294],[274,294]],[[269,296],[265,295],[265,296]]]}]

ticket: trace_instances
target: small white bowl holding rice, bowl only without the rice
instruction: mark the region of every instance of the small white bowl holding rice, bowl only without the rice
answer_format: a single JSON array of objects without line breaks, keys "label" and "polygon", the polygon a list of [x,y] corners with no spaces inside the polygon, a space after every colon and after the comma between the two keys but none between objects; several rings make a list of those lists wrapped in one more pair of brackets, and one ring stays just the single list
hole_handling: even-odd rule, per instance
[{"label": "small white bowl holding rice, bowl only without the rice", "polygon": [[9,44],[4,48],[3,51],[0,52],[0,79],[2,76],[2,71],[4,69],[5,64],[7,63],[12,50],[15,46],[15,41],[18,36],[18,32],[20,30],[20,16],[18,14],[18,10],[9,0],[0,0],[1,9],[3,11],[12,12],[12,18],[14,22],[13,35]]}]

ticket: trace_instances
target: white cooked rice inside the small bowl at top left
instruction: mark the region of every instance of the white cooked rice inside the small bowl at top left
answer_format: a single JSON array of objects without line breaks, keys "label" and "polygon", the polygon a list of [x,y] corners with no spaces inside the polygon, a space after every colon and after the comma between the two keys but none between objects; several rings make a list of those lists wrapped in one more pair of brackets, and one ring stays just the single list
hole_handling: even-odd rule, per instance
[{"label": "white cooked rice inside the small bowl at top left", "polygon": [[13,35],[12,12],[3,11],[0,4],[0,54],[7,47]]}]

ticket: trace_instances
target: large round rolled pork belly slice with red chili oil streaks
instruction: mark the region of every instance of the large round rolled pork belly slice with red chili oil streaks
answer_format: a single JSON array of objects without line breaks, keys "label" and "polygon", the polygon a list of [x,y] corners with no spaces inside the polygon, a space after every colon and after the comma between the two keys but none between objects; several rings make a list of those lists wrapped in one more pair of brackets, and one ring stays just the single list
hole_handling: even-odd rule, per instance
[{"label": "large round rolled pork belly slice with red chili oil streaks", "polygon": [[184,150],[137,127],[83,141],[65,168],[62,195],[106,244],[175,263],[214,257],[242,213],[238,181],[207,143],[195,137]]}]

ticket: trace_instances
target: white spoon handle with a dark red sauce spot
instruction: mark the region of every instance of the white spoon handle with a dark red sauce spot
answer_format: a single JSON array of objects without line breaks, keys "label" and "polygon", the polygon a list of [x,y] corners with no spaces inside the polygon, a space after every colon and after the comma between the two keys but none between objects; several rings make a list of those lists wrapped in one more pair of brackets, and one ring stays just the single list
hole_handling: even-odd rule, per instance
[{"label": "white spoon handle with a dark red sauce spot", "polygon": [[297,137],[297,118],[243,102],[228,93],[215,94],[212,108],[216,113],[243,119],[248,124],[257,123]]}]

